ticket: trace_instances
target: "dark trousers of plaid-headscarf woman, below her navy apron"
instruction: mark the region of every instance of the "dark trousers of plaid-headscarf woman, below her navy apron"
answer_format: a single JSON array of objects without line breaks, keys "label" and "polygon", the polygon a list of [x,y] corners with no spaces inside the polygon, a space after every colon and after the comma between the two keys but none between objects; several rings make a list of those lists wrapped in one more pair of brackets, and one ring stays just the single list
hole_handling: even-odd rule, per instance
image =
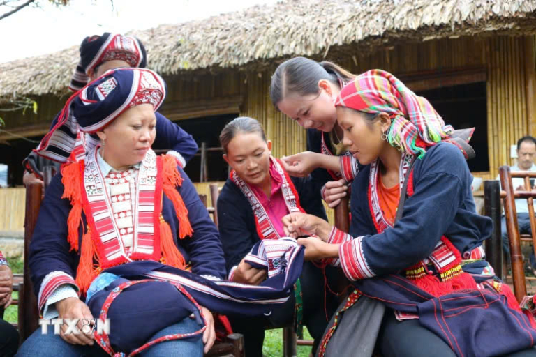
[{"label": "dark trousers of plaid-headscarf woman, below her navy apron", "polygon": [[[447,342],[424,328],[419,320],[398,321],[387,309],[376,347],[383,357],[456,357]],[[536,349],[509,354],[509,357],[536,356]]]}]

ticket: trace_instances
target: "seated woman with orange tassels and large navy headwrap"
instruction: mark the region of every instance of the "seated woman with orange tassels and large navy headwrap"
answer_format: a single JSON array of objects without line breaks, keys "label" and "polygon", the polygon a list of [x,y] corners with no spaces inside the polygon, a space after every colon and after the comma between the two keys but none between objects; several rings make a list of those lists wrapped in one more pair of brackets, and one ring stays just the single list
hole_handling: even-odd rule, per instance
[{"label": "seated woman with orange tassels and large navy headwrap", "polygon": [[[39,330],[20,356],[113,355],[114,349],[131,353],[147,347],[144,356],[202,356],[214,343],[211,312],[179,284],[154,278],[128,289],[110,308],[121,289],[156,268],[184,271],[188,262],[198,277],[225,277],[218,231],[191,181],[174,158],[151,150],[155,112],[165,92],[165,82],[151,70],[112,70],[68,100],[36,149],[45,158],[68,157],[75,141],[66,132],[78,128],[101,141],[52,180],[29,266],[45,319],[89,322],[108,314],[111,330],[69,333],[67,324],[61,335]],[[124,278],[131,275],[137,279]]]}]

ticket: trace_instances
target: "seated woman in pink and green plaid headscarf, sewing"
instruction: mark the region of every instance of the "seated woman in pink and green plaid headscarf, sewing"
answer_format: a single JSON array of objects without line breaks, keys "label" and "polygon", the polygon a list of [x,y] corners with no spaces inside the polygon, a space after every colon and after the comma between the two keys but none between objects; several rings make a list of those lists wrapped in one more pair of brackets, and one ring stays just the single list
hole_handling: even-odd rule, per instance
[{"label": "seated woman in pink and green plaid headscarf, sewing", "polygon": [[304,213],[283,220],[290,236],[318,236],[298,240],[306,259],[341,266],[355,286],[319,356],[371,356],[376,341],[382,356],[535,356],[533,315],[484,260],[491,220],[475,213],[470,146],[382,70],[347,84],[336,107],[364,165],[350,234]]}]

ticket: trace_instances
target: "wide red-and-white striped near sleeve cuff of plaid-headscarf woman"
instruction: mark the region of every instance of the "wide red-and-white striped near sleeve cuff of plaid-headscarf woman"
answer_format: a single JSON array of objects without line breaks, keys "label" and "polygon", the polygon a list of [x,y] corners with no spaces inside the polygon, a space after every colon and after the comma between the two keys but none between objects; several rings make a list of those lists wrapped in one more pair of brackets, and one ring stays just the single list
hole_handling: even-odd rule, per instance
[{"label": "wide red-and-white striped near sleeve cuff of plaid-headscarf woman", "polygon": [[351,281],[373,278],[375,276],[375,273],[366,262],[362,246],[363,238],[361,236],[351,241],[345,241],[338,248],[341,267],[346,277]]}]

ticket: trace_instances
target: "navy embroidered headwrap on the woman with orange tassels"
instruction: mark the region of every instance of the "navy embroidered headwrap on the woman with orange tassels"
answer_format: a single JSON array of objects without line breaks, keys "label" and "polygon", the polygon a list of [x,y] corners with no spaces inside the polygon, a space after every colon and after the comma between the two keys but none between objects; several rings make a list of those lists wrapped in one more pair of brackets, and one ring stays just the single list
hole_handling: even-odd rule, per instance
[{"label": "navy embroidered headwrap on the woman with orange tassels", "polygon": [[164,80],[152,70],[110,70],[69,98],[57,124],[34,152],[43,158],[67,162],[79,128],[90,134],[98,132],[135,105],[151,104],[156,112],[165,93]]}]

